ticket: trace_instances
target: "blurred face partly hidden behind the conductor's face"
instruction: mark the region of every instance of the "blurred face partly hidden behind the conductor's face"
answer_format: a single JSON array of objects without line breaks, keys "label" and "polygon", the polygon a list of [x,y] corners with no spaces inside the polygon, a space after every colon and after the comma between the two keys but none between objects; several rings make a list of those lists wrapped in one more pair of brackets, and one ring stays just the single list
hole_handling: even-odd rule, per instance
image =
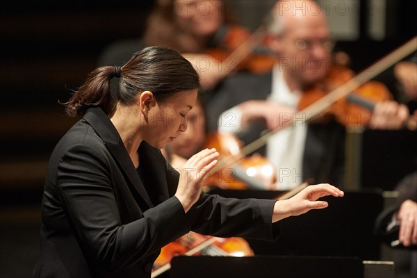
[{"label": "blurred face partly hidden behind the conductor's face", "polygon": [[169,144],[172,152],[183,158],[190,158],[199,152],[206,138],[206,115],[199,101],[195,103],[187,117],[187,130],[179,133],[177,138]]}]

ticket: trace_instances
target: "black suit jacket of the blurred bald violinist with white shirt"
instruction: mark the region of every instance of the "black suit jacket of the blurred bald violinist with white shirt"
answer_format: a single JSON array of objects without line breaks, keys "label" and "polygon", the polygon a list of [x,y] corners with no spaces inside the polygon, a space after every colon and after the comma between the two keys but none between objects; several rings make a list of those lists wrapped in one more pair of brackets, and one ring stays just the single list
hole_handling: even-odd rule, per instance
[{"label": "black suit jacket of the blurred bald violinist with white shirt", "polygon": [[[251,74],[238,72],[208,92],[208,123],[211,130],[218,128],[218,118],[227,109],[251,99],[266,99],[272,91],[272,72]],[[220,124],[233,124],[233,119],[222,119]],[[256,122],[249,132],[240,134],[240,139],[253,142],[259,138],[265,124]],[[265,148],[258,151],[265,155]],[[313,178],[315,183],[332,183],[343,188],[345,185],[345,127],[337,122],[326,124],[309,123],[304,147],[304,179]]]}]

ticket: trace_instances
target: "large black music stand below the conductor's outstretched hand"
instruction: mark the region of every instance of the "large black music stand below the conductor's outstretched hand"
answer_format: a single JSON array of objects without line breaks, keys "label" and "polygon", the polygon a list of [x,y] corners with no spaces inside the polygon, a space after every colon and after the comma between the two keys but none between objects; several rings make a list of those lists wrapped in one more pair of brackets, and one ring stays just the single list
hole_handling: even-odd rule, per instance
[{"label": "large black music stand below the conductor's outstretched hand", "polygon": [[[215,190],[210,193],[236,197],[259,197],[258,190]],[[258,194],[259,193],[259,194]],[[277,192],[265,192],[275,197]],[[256,255],[349,256],[379,260],[380,243],[374,234],[375,220],[382,211],[382,190],[345,190],[342,198],[324,197],[325,209],[311,210],[281,220],[281,233],[273,243],[246,238]]]}]

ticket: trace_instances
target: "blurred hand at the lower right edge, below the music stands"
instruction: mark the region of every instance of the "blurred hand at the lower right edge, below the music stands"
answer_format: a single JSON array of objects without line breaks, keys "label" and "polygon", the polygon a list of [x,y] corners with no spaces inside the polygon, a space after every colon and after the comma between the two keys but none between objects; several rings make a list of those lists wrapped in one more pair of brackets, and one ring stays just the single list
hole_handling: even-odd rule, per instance
[{"label": "blurred hand at the lower right edge, below the music stands", "polygon": [[417,203],[411,199],[402,202],[397,219],[401,222],[398,239],[402,245],[417,245]]}]

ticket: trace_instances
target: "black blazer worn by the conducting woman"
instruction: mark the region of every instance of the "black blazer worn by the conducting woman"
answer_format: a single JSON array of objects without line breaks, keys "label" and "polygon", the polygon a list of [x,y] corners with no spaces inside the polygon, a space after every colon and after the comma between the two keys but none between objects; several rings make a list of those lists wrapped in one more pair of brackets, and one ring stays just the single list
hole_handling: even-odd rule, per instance
[{"label": "black blazer worn by the conducting woman", "polygon": [[186,214],[173,197],[178,172],[146,142],[138,152],[142,179],[100,108],[58,142],[44,185],[35,277],[150,277],[161,247],[190,230],[276,238],[275,201],[203,193]]}]

